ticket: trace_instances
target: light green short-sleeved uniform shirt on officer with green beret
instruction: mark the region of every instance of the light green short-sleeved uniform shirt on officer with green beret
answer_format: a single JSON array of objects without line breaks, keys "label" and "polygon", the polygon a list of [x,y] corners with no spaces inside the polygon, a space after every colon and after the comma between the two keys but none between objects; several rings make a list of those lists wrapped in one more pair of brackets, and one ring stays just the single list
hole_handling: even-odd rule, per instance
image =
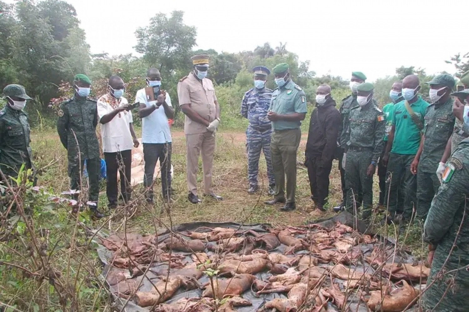
[{"label": "light green short-sleeved uniform shirt on officer with green beret", "polygon": [[[269,110],[279,115],[307,113],[304,91],[290,80],[283,87],[273,90]],[[272,121],[274,130],[298,129],[300,126],[301,121]]]}]

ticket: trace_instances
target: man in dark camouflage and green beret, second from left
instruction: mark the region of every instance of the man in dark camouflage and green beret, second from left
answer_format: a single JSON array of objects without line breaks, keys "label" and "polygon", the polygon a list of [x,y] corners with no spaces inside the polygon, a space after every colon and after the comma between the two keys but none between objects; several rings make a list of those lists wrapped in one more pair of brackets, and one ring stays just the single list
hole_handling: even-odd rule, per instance
[{"label": "man in dark camouflage and green beret, second from left", "polygon": [[57,120],[57,133],[68,154],[68,176],[70,188],[79,190],[83,183],[81,179],[83,164],[86,159],[88,179],[90,182],[89,206],[91,214],[96,218],[104,215],[98,210],[99,171],[99,143],[96,136],[98,113],[96,101],[88,97],[91,81],[83,75],[75,76],[75,96],[62,103]]}]

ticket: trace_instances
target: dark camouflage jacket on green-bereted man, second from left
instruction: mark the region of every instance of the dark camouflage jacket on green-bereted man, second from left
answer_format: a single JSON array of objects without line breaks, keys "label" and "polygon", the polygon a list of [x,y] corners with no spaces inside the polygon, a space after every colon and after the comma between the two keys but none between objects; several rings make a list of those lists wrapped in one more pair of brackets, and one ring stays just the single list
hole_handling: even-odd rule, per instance
[{"label": "dark camouflage jacket on green-bereted man, second from left", "polygon": [[[97,125],[96,101],[73,97],[61,104],[57,132],[62,145],[67,149],[69,163],[78,164],[79,159],[99,157]],[[78,149],[80,157],[78,157]]]}]

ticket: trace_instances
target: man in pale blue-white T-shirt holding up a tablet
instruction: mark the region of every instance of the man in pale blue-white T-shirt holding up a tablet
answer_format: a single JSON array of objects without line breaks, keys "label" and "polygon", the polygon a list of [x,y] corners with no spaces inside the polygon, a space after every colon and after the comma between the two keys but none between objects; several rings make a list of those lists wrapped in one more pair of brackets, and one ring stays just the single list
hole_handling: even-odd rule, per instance
[{"label": "man in pale blue-white T-shirt holding up a tablet", "polygon": [[[161,88],[161,74],[156,68],[147,71],[148,87]],[[138,114],[142,118],[142,143],[144,145],[144,186],[148,189],[146,200],[153,202],[153,174],[159,160],[161,188],[165,201],[171,198],[171,132],[168,119],[174,119],[169,94],[161,92],[156,101],[149,101],[145,89],[136,93],[135,102],[140,103]]]}]

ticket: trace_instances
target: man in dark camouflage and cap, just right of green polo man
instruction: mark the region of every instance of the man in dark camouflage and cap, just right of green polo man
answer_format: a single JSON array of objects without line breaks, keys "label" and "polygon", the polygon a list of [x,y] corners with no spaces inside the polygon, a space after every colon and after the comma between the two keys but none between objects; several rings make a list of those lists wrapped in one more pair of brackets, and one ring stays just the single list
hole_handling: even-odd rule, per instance
[{"label": "man in dark camouflage and cap, just right of green polo man", "polygon": [[437,193],[440,181],[436,174],[446,144],[453,133],[454,115],[451,90],[454,78],[449,74],[435,76],[430,82],[430,100],[424,118],[424,135],[410,170],[417,174],[417,217],[425,220],[431,200]]}]

